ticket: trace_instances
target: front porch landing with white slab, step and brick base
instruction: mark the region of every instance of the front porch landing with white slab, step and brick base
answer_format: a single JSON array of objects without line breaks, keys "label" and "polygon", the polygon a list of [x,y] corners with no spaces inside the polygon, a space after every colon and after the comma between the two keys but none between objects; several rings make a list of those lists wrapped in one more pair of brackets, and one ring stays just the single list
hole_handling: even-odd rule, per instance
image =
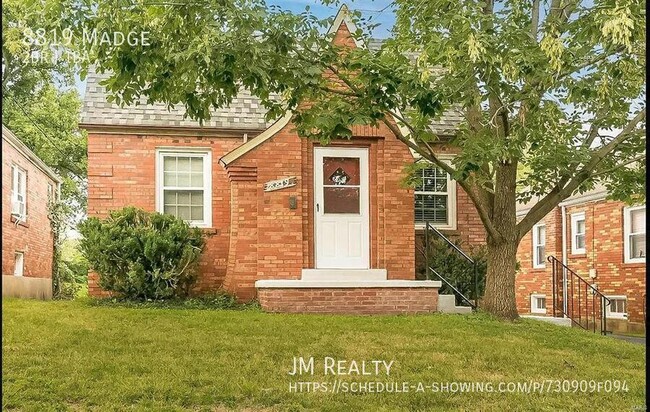
[{"label": "front porch landing with white slab, step and brick base", "polygon": [[267,312],[415,314],[438,310],[441,282],[387,280],[383,269],[303,270],[300,280],[258,280]]}]

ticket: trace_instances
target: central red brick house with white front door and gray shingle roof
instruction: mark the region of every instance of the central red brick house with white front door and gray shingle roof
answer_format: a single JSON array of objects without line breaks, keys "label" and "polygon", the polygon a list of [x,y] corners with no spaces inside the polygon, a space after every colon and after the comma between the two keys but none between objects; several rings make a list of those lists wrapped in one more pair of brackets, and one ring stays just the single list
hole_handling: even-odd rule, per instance
[{"label": "central red brick house with white front door and gray shingle roof", "polygon": [[[342,8],[333,41],[361,46],[354,30]],[[441,170],[424,171],[417,191],[404,187],[413,154],[383,125],[322,147],[295,133],[290,113],[265,122],[242,93],[199,127],[162,104],[107,103],[101,78],[89,74],[82,113],[88,214],[133,205],[204,228],[195,293],[224,287],[274,311],[435,311],[440,282],[415,280],[416,226],[428,219],[468,242],[484,238],[467,195]],[[449,112],[432,127],[448,136],[460,121]],[[453,151],[440,145],[439,154]],[[103,293],[95,274],[89,292]]]}]

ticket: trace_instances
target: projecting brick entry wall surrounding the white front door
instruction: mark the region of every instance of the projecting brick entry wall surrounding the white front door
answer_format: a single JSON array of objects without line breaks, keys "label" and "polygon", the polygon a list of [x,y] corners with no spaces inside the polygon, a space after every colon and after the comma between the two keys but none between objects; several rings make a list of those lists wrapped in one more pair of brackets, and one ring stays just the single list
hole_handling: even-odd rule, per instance
[{"label": "projecting brick entry wall surrounding the white front door", "polygon": [[[300,279],[303,268],[315,267],[315,144],[299,138],[293,128],[288,124],[272,139],[228,168],[233,176],[237,176],[242,168],[256,170],[255,177],[248,174],[248,179],[255,181],[256,192],[251,192],[252,183],[243,189],[241,179],[244,177],[239,180],[233,177],[232,182],[233,193],[245,190],[249,199],[233,200],[248,204],[233,209],[231,245],[236,244],[238,251],[236,256],[231,251],[234,279],[228,277],[225,283],[239,296],[253,297],[257,279]],[[332,142],[331,145],[365,147],[369,151],[370,266],[387,269],[389,279],[414,279],[413,191],[401,184],[403,169],[413,158],[387,128],[355,127],[354,132],[358,137],[351,141]],[[290,176],[297,177],[296,186],[264,192],[265,182]],[[296,209],[289,208],[290,197],[296,198]],[[257,199],[256,205],[251,204],[251,198]],[[257,231],[244,233],[235,227],[250,225],[251,222],[257,222]],[[257,256],[256,268],[252,256]],[[242,270],[242,264],[250,270]],[[235,268],[239,268],[238,273],[235,273]]]}]

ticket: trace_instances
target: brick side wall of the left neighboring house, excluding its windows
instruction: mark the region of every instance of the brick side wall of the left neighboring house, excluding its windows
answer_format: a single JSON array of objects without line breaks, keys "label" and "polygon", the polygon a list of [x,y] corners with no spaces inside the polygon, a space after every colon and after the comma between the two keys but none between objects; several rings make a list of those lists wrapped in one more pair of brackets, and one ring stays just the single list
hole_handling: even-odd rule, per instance
[{"label": "brick side wall of the left neighboring house, excluding its windows", "polygon": [[[11,217],[11,166],[27,172],[27,221],[16,225]],[[24,276],[52,277],[53,236],[47,217],[47,184],[56,182],[2,140],[2,274],[14,274],[17,251],[24,252]]]}]

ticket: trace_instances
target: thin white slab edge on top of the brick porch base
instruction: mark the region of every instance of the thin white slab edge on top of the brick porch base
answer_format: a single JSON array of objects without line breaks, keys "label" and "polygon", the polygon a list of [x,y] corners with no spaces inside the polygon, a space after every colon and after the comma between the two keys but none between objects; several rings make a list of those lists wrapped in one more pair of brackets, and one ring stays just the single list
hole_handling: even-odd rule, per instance
[{"label": "thin white slab edge on top of the brick porch base", "polygon": [[309,281],[309,280],[258,280],[258,289],[305,289],[305,288],[440,288],[437,280],[369,280],[369,281]]}]

